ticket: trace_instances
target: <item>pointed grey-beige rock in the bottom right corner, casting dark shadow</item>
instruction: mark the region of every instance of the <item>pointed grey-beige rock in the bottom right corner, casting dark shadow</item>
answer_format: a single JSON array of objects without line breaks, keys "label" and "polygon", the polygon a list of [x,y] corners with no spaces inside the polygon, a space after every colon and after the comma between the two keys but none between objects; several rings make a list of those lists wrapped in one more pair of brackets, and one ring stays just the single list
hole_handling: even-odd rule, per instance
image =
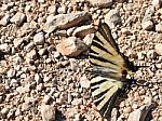
[{"label": "pointed grey-beige rock in the bottom right corner, casting dark shadow", "polygon": [[127,121],[146,121],[147,115],[152,107],[152,104],[150,104],[136,109],[130,113]]}]

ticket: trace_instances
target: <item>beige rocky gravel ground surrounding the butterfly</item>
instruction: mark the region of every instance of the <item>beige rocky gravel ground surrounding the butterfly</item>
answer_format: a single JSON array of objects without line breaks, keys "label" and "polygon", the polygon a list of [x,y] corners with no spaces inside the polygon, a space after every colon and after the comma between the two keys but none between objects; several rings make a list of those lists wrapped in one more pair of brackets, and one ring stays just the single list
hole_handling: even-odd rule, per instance
[{"label": "beige rocky gravel ground surrounding the butterfly", "polygon": [[135,79],[147,86],[133,85],[119,98],[112,121],[162,121],[161,6],[161,0],[1,0],[0,120],[103,121],[84,72],[99,19],[121,52],[146,66]]}]

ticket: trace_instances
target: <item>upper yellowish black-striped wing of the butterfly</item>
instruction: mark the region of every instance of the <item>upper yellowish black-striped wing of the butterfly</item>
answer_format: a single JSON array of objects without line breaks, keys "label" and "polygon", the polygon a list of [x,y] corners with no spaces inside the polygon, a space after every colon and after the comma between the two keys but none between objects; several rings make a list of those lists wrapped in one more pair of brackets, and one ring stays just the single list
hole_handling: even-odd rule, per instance
[{"label": "upper yellowish black-striped wing of the butterfly", "polygon": [[108,68],[119,75],[126,69],[125,58],[120,53],[107,24],[102,24],[96,31],[90,50],[90,63],[93,67]]}]

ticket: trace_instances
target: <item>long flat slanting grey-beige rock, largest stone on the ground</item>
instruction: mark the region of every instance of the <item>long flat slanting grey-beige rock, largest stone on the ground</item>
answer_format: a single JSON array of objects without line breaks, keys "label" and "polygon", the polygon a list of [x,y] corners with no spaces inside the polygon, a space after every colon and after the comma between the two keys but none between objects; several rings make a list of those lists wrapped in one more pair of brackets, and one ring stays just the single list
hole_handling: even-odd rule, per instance
[{"label": "long flat slanting grey-beige rock, largest stone on the ground", "polygon": [[77,26],[79,23],[90,21],[91,14],[87,12],[78,12],[69,14],[58,14],[56,16],[48,16],[46,23],[43,26],[45,32],[52,32],[56,29],[67,29]]}]

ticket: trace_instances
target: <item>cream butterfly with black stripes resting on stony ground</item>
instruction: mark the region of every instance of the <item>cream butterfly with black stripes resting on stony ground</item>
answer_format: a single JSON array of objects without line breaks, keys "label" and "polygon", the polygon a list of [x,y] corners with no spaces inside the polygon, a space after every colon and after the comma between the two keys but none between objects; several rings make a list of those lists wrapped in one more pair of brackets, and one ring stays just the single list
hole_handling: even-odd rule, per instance
[{"label": "cream butterfly with black stripes resting on stony ground", "polygon": [[108,119],[119,94],[135,83],[137,67],[120,52],[106,23],[99,24],[95,32],[89,57],[93,102],[100,116]]}]

